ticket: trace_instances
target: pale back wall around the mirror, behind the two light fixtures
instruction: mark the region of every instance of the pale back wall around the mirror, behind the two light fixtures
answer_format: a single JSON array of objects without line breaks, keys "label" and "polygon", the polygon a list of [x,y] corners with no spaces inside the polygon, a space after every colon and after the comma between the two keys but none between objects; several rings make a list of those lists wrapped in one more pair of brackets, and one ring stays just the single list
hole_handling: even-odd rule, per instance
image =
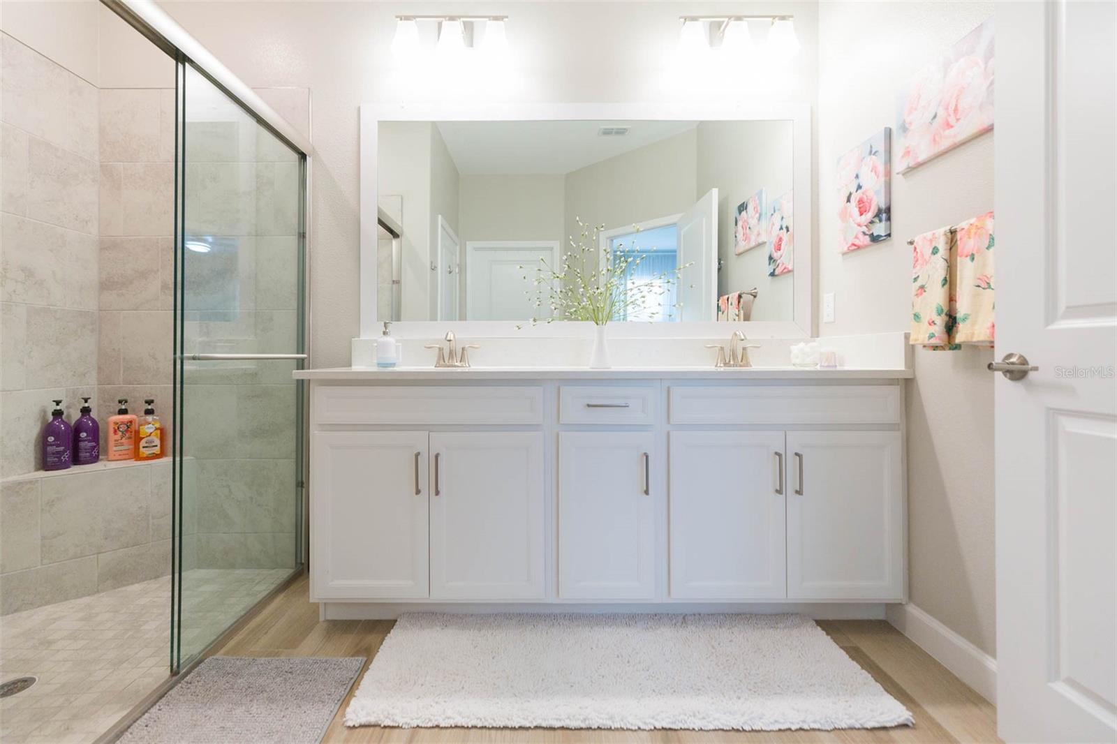
[{"label": "pale back wall around the mirror, behind the two light fixtures", "polygon": [[[254,87],[311,88],[316,160],[312,225],[314,366],[350,363],[359,335],[357,106],[375,102],[813,102],[818,6],[750,3],[752,12],[793,13],[803,51],[787,66],[742,75],[723,65],[697,73],[676,65],[678,17],[737,13],[741,2],[472,3],[507,13],[509,56],[500,69],[399,64],[389,50],[397,13],[458,10],[430,2],[160,3],[235,74]],[[460,73],[460,75],[458,74]]]}]

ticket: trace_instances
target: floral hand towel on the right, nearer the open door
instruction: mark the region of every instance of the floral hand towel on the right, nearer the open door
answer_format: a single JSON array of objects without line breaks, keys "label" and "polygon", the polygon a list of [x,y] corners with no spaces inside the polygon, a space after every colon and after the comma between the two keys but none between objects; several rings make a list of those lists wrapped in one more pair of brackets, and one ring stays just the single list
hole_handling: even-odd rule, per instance
[{"label": "floral hand towel on the right, nearer the open door", "polygon": [[993,345],[993,212],[954,228],[957,316],[954,343]]}]

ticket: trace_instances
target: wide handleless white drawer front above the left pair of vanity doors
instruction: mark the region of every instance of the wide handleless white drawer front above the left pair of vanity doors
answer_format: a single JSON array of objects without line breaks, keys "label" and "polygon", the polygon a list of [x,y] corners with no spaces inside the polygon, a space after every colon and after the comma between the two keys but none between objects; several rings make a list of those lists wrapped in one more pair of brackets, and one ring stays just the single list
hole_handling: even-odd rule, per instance
[{"label": "wide handleless white drawer front above the left pair of vanity doors", "polygon": [[315,423],[542,423],[542,387],[319,385]]}]

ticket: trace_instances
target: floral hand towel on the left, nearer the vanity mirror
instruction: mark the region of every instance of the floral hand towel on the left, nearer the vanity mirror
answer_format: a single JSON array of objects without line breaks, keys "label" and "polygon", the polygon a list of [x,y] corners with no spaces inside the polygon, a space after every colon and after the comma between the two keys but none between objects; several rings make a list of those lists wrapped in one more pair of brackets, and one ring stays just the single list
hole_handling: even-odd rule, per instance
[{"label": "floral hand towel on the left, nearer the vanity mirror", "polygon": [[911,247],[911,343],[946,349],[954,331],[951,260],[954,231],[938,228],[916,237]]}]

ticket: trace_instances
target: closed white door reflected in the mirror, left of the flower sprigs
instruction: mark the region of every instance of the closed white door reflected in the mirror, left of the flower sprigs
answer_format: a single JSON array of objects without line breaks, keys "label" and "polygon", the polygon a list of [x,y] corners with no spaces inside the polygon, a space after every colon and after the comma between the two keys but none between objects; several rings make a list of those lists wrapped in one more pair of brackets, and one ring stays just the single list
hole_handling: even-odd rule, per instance
[{"label": "closed white door reflected in the mirror, left of the flower sprigs", "polygon": [[465,319],[522,323],[551,317],[545,302],[535,306],[541,260],[557,267],[557,240],[467,240]]}]

